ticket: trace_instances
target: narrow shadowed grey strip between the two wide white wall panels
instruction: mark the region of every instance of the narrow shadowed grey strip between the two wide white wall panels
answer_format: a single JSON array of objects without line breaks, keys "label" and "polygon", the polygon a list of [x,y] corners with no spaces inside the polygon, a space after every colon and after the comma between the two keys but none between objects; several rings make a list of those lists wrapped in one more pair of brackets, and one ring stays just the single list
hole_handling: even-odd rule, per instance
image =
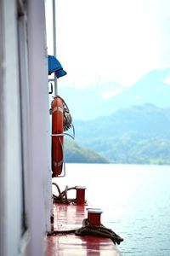
[{"label": "narrow shadowed grey strip between the two wide white wall panels", "polygon": [[[20,255],[25,255],[29,247],[29,225],[28,215],[30,208],[30,189],[31,178],[29,173],[31,169],[31,119],[30,119],[30,90],[28,83],[27,67],[27,44],[26,44],[26,16],[20,15],[18,19],[19,32],[19,59],[20,59],[20,101],[21,101],[21,136],[22,136],[22,182],[23,182],[23,230],[24,235],[20,240]],[[28,230],[27,230],[28,229]]]}]

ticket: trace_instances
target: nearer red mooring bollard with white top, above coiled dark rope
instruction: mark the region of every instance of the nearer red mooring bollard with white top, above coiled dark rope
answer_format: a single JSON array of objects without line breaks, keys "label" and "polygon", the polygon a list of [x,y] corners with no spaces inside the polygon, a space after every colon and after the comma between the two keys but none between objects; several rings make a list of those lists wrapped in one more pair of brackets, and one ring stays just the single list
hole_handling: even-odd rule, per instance
[{"label": "nearer red mooring bollard with white top, above coiled dark rope", "polygon": [[101,224],[101,209],[88,208],[88,223],[90,225],[99,226]]}]

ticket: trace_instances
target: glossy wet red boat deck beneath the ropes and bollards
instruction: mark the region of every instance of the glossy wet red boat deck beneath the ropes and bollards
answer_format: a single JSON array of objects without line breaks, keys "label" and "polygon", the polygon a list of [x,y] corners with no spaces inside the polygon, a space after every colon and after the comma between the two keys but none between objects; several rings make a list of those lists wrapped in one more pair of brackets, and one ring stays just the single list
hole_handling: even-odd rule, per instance
[{"label": "glossy wet red boat deck beneath the ropes and bollards", "polygon": [[[72,230],[82,227],[87,218],[87,206],[54,203],[54,230]],[[47,236],[45,256],[99,255],[120,256],[110,238],[75,236],[75,234]]]}]

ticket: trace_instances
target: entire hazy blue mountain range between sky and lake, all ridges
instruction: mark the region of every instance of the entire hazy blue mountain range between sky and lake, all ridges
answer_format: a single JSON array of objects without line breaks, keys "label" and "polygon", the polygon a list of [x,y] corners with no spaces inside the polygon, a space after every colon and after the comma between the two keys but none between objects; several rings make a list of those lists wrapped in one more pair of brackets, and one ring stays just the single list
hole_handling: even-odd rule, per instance
[{"label": "entire hazy blue mountain range between sky and lake, all ridges", "polygon": [[129,88],[110,82],[61,91],[76,130],[67,160],[85,154],[85,162],[170,164],[170,68],[146,73]]}]

